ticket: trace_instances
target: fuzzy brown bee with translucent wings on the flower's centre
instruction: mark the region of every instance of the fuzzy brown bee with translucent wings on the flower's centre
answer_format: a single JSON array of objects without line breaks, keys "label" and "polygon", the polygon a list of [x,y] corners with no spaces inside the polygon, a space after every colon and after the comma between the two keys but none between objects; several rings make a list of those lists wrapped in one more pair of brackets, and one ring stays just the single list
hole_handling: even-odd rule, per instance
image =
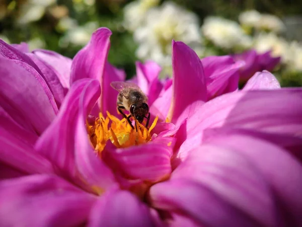
[{"label": "fuzzy brown bee with translucent wings on the flower's centre", "polygon": [[[137,120],[140,124],[145,118],[147,120],[145,127],[147,128],[150,120],[147,96],[134,83],[115,81],[111,82],[110,85],[119,92],[117,96],[117,109],[121,115],[127,119],[132,129],[134,129],[134,127],[130,121],[131,117]],[[123,110],[128,110],[130,115],[127,117]],[[146,115],[148,115],[148,117],[146,117]],[[135,128],[137,131],[136,123]]]}]

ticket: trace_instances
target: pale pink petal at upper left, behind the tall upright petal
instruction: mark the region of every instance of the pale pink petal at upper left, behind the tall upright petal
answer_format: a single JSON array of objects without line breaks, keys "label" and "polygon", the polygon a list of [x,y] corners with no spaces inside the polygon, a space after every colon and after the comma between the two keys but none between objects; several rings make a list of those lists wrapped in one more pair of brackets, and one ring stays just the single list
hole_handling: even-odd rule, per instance
[{"label": "pale pink petal at upper left, behind the tall upright petal", "polygon": [[69,89],[72,60],[51,50],[36,49],[33,53],[54,71],[62,86]]}]

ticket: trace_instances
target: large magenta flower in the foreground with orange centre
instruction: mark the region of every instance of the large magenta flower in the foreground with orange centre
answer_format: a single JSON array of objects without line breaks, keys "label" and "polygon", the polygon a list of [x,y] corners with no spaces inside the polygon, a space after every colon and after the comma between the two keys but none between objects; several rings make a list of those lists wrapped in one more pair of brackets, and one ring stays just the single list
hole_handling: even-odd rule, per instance
[{"label": "large magenta flower in the foreground with orange centre", "polygon": [[[2,43],[1,225],[300,226],[302,89],[280,89],[263,71],[238,91],[236,63],[218,58],[223,76],[214,58],[200,61],[173,41],[172,83],[157,79],[156,64],[136,65],[153,119],[160,118],[138,135],[112,116],[110,82],[125,77],[107,62],[110,35],[98,29],[74,57],[59,108],[52,77]],[[53,71],[50,59],[43,64]],[[100,111],[99,120],[88,119]],[[134,133],[139,144],[100,140],[109,118],[112,137],[129,133],[126,144]]]}]

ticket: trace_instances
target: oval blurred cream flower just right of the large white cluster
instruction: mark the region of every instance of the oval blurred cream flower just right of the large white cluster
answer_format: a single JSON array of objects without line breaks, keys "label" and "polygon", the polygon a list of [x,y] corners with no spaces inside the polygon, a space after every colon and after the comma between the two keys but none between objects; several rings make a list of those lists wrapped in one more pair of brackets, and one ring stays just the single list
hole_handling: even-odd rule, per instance
[{"label": "oval blurred cream flower just right of the large white cluster", "polygon": [[237,47],[246,49],[252,44],[251,37],[244,33],[237,22],[224,18],[205,18],[201,31],[214,45],[224,49]]}]

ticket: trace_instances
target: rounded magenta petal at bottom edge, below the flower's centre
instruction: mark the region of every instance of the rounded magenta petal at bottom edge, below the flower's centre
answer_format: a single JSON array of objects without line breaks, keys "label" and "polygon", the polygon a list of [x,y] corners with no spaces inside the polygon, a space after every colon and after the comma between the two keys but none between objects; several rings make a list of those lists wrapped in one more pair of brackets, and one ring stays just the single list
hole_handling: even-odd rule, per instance
[{"label": "rounded magenta petal at bottom edge, below the flower's centre", "polygon": [[89,218],[89,227],[155,226],[148,207],[128,191],[114,190],[103,195]]}]

